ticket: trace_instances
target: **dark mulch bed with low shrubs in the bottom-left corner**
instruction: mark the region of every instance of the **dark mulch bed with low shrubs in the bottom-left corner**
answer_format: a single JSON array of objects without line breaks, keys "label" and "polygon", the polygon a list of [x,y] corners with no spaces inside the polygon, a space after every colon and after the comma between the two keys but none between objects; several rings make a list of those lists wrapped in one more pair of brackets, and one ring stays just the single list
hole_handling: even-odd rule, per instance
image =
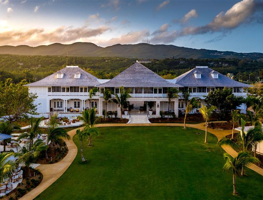
[{"label": "dark mulch bed with low shrubs in the bottom-left corner", "polygon": [[18,186],[8,194],[1,197],[3,200],[16,200],[24,196],[35,187],[37,187],[42,179],[43,175],[36,169],[31,169],[30,173],[32,177],[28,177],[28,168],[22,167],[23,170],[23,181],[18,184]]}]

